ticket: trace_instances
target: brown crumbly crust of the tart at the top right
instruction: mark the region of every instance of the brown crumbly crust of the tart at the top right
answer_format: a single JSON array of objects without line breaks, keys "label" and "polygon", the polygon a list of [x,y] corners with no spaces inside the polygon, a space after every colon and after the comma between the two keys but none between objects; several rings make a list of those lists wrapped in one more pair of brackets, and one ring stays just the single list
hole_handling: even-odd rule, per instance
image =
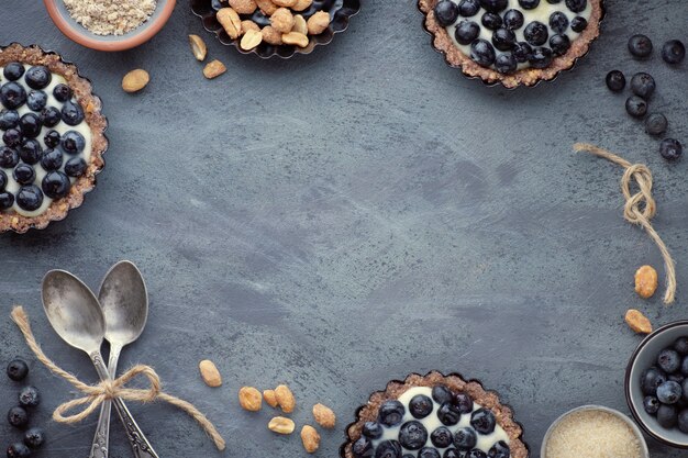
[{"label": "brown crumbly crust of the tart at the top right", "polygon": [[464,75],[480,78],[488,85],[501,83],[513,89],[518,86],[535,86],[542,80],[552,80],[563,71],[570,69],[576,60],[588,53],[590,43],[600,35],[600,23],[604,16],[603,0],[589,0],[592,8],[588,27],[572,42],[572,46],[563,56],[555,57],[547,68],[523,68],[513,75],[502,75],[492,68],[486,68],[475,63],[458,49],[446,29],[435,19],[433,9],[440,0],[419,0],[418,8],[425,14],[425,30],[432,35],[433,47],[444,54],[446,63],[460,68]]}]

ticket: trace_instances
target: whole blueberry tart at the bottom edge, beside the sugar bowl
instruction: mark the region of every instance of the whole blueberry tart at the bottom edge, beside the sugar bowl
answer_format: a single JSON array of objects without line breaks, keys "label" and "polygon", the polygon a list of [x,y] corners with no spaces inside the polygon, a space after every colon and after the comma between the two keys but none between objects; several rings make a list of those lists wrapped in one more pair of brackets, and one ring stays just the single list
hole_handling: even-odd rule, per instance
[{"label": "whole blueberry tart at the bottom edge, beside the sugar bowl", "polygon": [[521,425],[479,381],[413,373],[370,395],[342,458],[526,458]]}]

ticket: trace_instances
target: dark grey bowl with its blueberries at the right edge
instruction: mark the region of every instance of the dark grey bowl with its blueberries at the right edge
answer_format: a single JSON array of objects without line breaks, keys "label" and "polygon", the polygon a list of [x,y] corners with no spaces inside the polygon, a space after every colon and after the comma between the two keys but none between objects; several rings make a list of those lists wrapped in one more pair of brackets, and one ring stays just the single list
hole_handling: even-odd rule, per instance
[{"label": "dark grey bowl with its blueberries at the right edge", "polygon": [[626,368],[625,396],[645,433],[688,449],[688,321],[669,323],[641,342]]}]

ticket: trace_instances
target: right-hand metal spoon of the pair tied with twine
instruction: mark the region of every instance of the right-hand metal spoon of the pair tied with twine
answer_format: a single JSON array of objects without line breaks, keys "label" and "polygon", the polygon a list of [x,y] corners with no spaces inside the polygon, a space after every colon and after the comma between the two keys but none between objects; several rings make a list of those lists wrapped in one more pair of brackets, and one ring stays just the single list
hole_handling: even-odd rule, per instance
[{"label": "right-hand metal spoon of the pair tied with twine", "polygon": [[[123,260],[110,268],[100,284],[98,302],[106,317],[106,339],[110,343],[108,371],[114,379],[122,348],[141,336],[148,317],[146,284],[133,262]],[[90,458],[108,458],[111,407],[110,401],[102,403]]]}]

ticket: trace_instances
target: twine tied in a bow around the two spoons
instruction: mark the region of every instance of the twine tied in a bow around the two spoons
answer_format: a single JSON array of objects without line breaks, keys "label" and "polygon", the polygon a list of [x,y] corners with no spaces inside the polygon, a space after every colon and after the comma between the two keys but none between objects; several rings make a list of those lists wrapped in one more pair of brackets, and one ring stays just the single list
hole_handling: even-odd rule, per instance
[{"label": "twine tied in a bow around the two spoons", "polygon": [[[160,378],[155,370],[149,366],[137,365],[124,372],[120,378],[115,380],[102,381],[98,384],[90,386],[84,383],[77,379],[74,375],[58,367],[53,360],[51,360],[41,349],[41,346],[36,342],[33,332],[31,331],[31,324],[29,316],[22,306],[15,306],[12,310],[12,321],[16,324],[19,329],[26,339],[26,345],[34,353],[36,358],[43,362],[53,373],[67,380],[74,388],[84,393],[82,398],[78,398],[68,402],[65,402],[55,409],[53,412],[53,420],[59,423],[78,423],[93,413],[106,401],[113,398],[121,398],[125,401],[138,401],[138,402],[153,402],[165,401],[184,412],[198,422],[198,424],[206,431],[210,438],[215,444],[219,450],[224,450],[225,443],[215,426],[203,415],[193,404],[182,399],[167,394],[160,389]],[[148,389],[134,389],[126,388],[126,384],[137,377],[145,377],[148,379]],[[71,415],[67,413],[79,406],[85,407]]]}]

